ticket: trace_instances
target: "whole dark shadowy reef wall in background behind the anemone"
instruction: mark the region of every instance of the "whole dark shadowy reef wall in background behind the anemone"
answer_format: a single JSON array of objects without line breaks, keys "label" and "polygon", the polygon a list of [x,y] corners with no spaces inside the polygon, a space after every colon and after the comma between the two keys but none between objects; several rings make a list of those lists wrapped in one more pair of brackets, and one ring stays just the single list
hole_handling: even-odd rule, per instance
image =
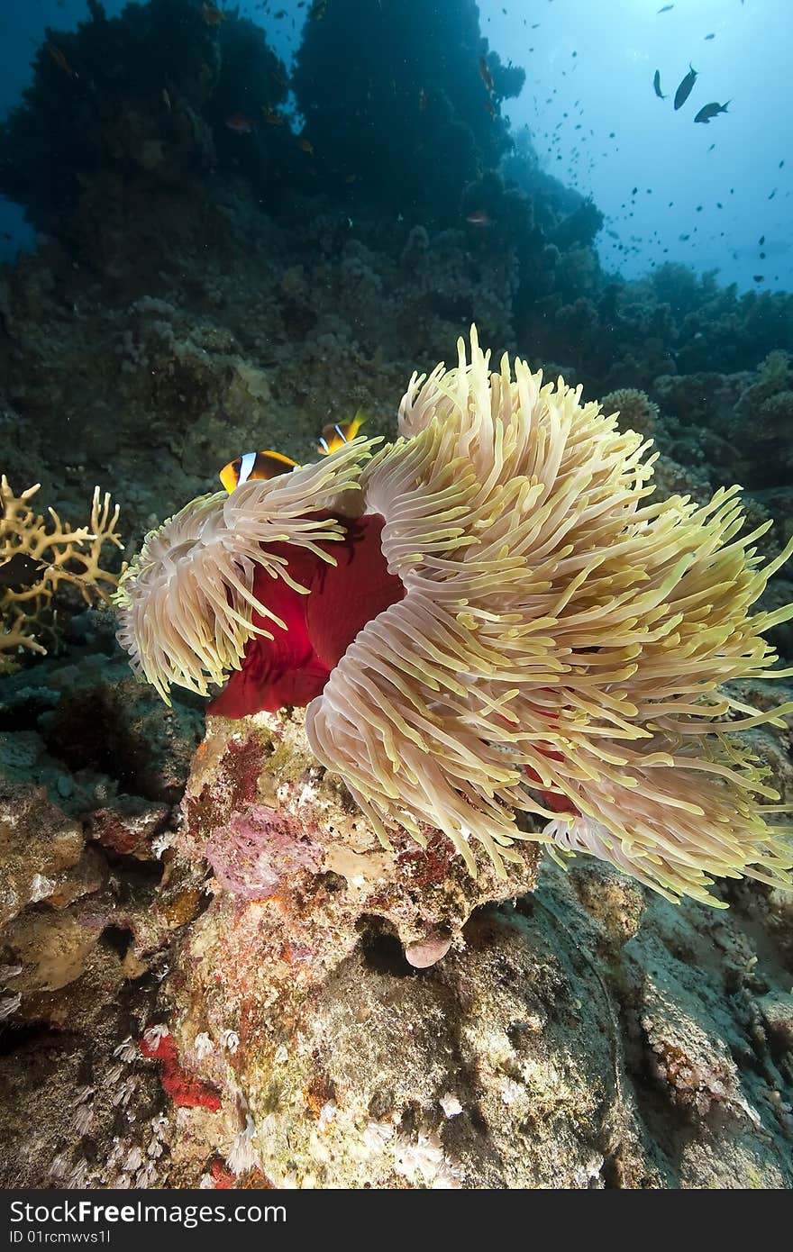
[{"label": "whole dark shadowy reef wall in background behind the anemone", "polygon": [[358,406],[391,433],[476,322],[588,397],[644,391],[668,481],[744,482],[780,542],[793,295],[605,273],[598,207],[502,115],[521,86],[470,0],[314,5],[291,78],[199,0],[49,30],[0,126],[40,232],[0,274],[13,481],[31,454],[56,507],[101,481],[139,536],[247,446],[309,456]]}]

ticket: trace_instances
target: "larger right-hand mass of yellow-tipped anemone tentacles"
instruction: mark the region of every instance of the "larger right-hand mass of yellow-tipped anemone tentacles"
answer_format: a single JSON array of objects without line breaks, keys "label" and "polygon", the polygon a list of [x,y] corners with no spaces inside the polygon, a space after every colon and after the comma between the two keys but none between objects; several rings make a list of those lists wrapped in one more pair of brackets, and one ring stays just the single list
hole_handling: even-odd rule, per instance
[{"label": "larger right-hand mass of yellow-tipped anemone tentacles", "polygon": [[768,617],[748,615],[769,570],[739,536],[738,488],[648,503],[640,436],[521,361],[491,374],[475,333],[470,362],[461,341],[456,369],[411,381],[400,431],[361,488],[407,593],[307,716],[383,838],[440,826],[469,864],[476,841],[497,860],[524,810],[560,854],[670,899],[712,900],[712,875],[787,884],[790,849],[753,800],[777,793],[715,692],[775,661]]}]

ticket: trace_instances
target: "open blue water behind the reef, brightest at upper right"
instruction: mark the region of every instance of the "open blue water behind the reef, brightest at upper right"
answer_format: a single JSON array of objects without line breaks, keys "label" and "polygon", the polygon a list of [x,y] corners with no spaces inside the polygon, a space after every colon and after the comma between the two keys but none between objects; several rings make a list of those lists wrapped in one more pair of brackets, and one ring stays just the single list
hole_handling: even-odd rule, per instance
[{"label": "open blue water behind the reef, brightest at upper right", "polygon": [[[114,16],[124,4],[103,8]],[[309,5],[227,8],[259,24],[291,66]],[[441,19],[443,8],[427,0]],[[3,118],[31,81],[45,28],[74,29],[88,10],[85,0],[3,0],[0,11]],[[479,14],[490,48],[526,71],[502,106],[512,134],[527,126],[541,168],[603,212],[596,245],[608,270],[635,278],[671,260],[740,290],[793,288],[788,0],[482,0]],[[356,73],[355,35],[339,75]],[[689,65],[698,78],[675,111]],[[665,100],[653,89],[656,70]],[[729,101],[728,113],[695,124],[710,101]],[[21,209],[0,199],[0,259],[33,238]]]}]

